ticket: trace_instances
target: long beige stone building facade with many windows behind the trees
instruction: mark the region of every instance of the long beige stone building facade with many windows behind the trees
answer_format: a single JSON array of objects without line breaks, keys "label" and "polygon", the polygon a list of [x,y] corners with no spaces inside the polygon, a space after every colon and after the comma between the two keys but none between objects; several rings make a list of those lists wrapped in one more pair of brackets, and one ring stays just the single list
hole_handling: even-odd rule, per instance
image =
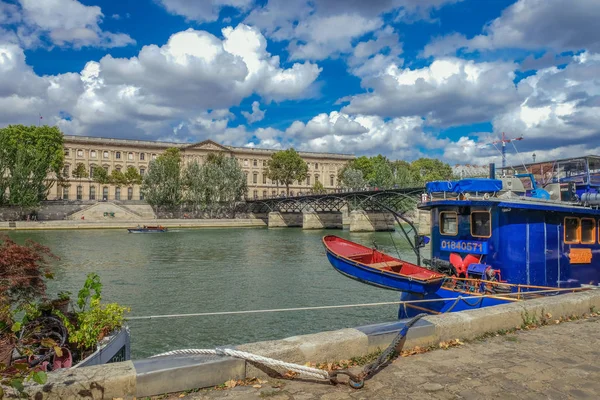
[{"label": "long beige stone building facade with many windows behind the trees", "polygon": [[[135,167],[143,176],[150,161],[170,147],[177,147],[184,163],[197,161],[200,164],[211,153],[223,153],[235,157],[247,175],[249,198],[266,198],[285,193],[285,187],[272,182],[266,176],[267,161],[275,150],[246,147],[222,146],[212,140],[199,143],[171,143],[143,140],[110,139],[86,136],[64,137],[65,164],[63,175],[68,185],[54,185],[48,198],[64,200],[143,200],[140,185],[116,187],[100,185],[91,179],[94,168],[104,168],[110,174],[114,169],[125,172]],[[354,159],[350,154],[299,152],[308,164],[308,176],[302,182],[290,185],[290,196],[307,193],[316,181],[327,191],[338,188],[337,175],[344,165]],[[89,178],[77,179],[73,171],[82,163]]]}]

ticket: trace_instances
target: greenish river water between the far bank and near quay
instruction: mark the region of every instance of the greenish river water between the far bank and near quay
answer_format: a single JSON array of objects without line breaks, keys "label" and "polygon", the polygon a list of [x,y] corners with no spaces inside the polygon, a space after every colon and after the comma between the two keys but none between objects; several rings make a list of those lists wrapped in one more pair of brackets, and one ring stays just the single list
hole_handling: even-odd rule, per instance
[{"label": "greenish river water between the far bank and near quay", "polygon": [[[103,301],[131,316],[274,309],[397,301],[397,292],[336,272],[321,238],[335,234],[414,260],[397,233],[300,228],[181,229],[166,234],[123,230],[12,232],[49,246],[56,263],[49,292],[75,297],[89,272],[102,279]],[[392,241],[393,235],[393,241]],[[212,348],[393,321],[397,306],[267,314],[133,320],[132,357],[178,348]]]}]

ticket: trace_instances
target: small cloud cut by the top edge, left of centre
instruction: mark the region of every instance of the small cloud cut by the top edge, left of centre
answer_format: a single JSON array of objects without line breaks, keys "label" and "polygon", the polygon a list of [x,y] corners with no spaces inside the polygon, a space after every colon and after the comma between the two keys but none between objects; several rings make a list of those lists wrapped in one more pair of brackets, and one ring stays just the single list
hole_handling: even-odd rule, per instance
[{"label": "small cloud cut by the top edge, left of centre", "polygon": [[211,22],[219,18],[224,7],[240,11],[250,8],[254,0],[158,0],[171,14],[184,16],[189,21]]}]

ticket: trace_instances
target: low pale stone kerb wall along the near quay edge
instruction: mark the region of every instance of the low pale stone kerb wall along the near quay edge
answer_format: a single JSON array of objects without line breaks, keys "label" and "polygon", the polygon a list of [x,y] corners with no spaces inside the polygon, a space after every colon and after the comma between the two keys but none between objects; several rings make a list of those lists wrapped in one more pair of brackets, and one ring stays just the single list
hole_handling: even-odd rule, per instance
[{"label": "low pale stone kerb wall along the near quay edge", "polygon": [[[409,330],[404,348],[438,345],[450,339],[474,339],[486,333],[513,329],[532,318],[554,320],[598,309],[600,290],[589,290],[427,316]],[[387,347],[403,326],[403,321],[388,322],[249,343],[235,348],[299,364],[339,361]],[[82,388],[92,399],[132,399],[216,386],[230,379],[261,377],[266,373],[250,363],[229,357],[173,356],[50,373],[45,385],[30,384],[27,390],[36,399],[75,399],[79,398],[77,396]],[[110,391],[97,390],[108,387]]]}]

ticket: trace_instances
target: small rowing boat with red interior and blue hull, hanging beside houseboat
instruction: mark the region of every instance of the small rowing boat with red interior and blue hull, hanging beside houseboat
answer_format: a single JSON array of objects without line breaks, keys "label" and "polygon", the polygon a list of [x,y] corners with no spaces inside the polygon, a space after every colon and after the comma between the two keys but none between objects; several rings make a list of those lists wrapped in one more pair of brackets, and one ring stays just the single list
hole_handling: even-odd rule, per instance
[{"label": "small rowing boat with red interior and blue hull, hanging beside houseboat", "polygon": [[323,244],[329,262],[338,272],[384,289],[418,294],[433,293],[447,277],[338,236],[325,236]]}]

